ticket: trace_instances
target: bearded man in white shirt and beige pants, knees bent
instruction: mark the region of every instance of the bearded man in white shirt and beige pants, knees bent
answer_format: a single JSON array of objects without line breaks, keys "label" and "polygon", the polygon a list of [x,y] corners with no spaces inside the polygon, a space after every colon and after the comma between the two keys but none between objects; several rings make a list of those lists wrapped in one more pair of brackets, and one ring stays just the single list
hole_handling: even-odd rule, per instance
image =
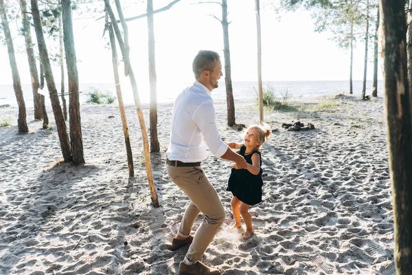
[{"label": "bearded man in white shirt and beige pants, knees bent", "polygon": [[[166,152],[169,177],[190,199],[179,232],[172,240],[172,249],[191,243],[179,265],[179,274],[220,274],[199,261],[225,220],[225,209],[216,189],[205,176],[201,162],[207,158],[209,147],[216,157],[235,162],[236,168],[246,168],[247,164],[222,141],[216,126],[211,91],[218,87],[222,76],[219,55],[211,51],[198,52],[193,61],[193,72],[196,81],[174,102],[170,145]],[[190,236],[199,212],[203,212],[205,219],[196,234]]]}]

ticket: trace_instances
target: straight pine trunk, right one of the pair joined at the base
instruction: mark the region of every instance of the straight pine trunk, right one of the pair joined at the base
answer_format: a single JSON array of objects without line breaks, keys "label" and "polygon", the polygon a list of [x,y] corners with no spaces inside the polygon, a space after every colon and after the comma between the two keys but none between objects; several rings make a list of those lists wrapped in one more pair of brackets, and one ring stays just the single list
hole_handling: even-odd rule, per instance
[{"label": "straight pine trunk, right one of the pair joined at the base", "polygon": [[70,145],[73,164],[84,164],[82,123],[80,120],[79,74],[77,69],[76,48],[74,47],[73,23],[71,22],[70,0],[62,0],[63,40],[67,75],[69,76],[69,126]]}]

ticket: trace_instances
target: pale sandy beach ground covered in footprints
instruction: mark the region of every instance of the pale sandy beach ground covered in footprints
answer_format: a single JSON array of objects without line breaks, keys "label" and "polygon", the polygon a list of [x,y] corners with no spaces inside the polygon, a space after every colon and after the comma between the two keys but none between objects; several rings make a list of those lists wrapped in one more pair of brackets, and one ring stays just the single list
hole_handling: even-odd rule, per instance
[{"label": "pale sandy beach ground covered in footprints", "polygon": [[[258,121],[255,102],[235,102],[236,122]],[[240,142],[216,102],[222,138]],[[161,153],[152,154],[160,208],[144,167],[139,121],[126,107],[135,177],[128,177],[116,105],[82,105],[86,164],[60,163],[56,124],[17,133],[17,109],[0,109],[0,274],[176,274],[187,246],[168,250],[188,200],[165,170],[172,104],[160,104]],[[146,125],[148,106],[144,105]],[[273,135],[262,149],[264,196],[251,208],[255,234],[231,232],[230,162],[202,163],[227,210],[203,256],[222,274],[395,274],[393,211],[382,98],[295,98],[288,111],[265,111]],[[308,122],[310,131],[282,123]],[[199,216],[195,231],[203,217]]]}]

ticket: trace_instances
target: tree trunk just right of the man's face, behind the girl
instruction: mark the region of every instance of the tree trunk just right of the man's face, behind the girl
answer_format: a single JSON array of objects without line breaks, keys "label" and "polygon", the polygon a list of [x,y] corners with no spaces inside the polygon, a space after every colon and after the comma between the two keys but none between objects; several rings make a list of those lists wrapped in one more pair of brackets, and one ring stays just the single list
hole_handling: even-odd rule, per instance
[{"label": "tree trunk just right of the man's face, behind the girl", "polygon": [[223,28],[223,54],[225,56],[227,125],[233,126],[236,124],[236,117],[235,117],[235,102],[233,100],[233,87],[231,83],[229,22],[227,22],[227,0],[222,0],[222,28]]}]

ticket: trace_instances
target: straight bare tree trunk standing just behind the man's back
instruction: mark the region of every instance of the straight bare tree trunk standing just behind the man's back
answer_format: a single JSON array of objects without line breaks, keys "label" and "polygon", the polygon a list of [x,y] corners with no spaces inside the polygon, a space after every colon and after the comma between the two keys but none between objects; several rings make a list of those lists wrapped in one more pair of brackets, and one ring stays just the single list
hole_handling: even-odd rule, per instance
[{"label": "straight bare tree trunk standing just behind the man's back", "polygon": [[153,1],[148,0],[148,48],[150,83],[150,152],[160,152],[157,139],[157,76],[155,59],[155,24],[153,23]]}]

